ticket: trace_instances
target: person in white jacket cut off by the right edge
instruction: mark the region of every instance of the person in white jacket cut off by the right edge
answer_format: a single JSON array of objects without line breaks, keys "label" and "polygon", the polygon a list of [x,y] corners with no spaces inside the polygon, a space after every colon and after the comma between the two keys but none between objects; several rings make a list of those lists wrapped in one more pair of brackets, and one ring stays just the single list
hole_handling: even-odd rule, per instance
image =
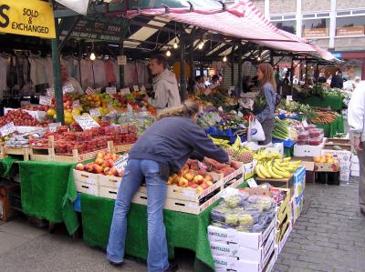
[{"label": "person in white jacket cut off by the right edge", "polygon": [[365,82],[360,82],[349,101],[349,130],[353,136],[353,146],[360,161],[359,203],[365,216]]}]

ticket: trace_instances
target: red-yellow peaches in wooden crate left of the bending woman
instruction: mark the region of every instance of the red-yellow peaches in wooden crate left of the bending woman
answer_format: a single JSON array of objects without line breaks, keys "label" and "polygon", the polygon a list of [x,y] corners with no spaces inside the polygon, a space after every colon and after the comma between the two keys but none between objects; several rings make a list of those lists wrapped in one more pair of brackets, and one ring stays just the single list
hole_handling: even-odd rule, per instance
[{"label": "red-yellow peaches in wooden crate left of the bending woman", "polygon": [[99,152],[92,163],[79,163],[75,169],[103,176],[123,176],[123,171],[118,171],[114,162],[120,158],[115,153]]}]

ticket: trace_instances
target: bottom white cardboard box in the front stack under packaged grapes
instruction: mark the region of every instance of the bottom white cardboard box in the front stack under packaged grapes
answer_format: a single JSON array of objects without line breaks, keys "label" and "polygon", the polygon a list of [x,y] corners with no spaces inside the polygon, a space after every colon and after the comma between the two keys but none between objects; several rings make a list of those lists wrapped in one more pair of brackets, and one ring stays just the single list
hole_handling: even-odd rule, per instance
[{"label": "bottom white cardboard box in the front stack under packaged grapes", "polygon": [[264,257],[263,263],[248,262],[237,257],[213,256],[215,272],[261,272],[265,270],[266,265],[271,263],[275,255],[274,242]]}]

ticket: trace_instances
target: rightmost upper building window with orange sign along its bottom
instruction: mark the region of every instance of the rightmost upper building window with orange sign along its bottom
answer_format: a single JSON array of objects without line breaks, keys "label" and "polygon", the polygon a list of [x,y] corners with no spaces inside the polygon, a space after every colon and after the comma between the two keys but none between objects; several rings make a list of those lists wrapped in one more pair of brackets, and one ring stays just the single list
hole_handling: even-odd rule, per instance
[{"label": "rightmost upper building window with orange sign along its bottom", "polygon": [[336,18],[336,36],[365,35],[365,15]]}]

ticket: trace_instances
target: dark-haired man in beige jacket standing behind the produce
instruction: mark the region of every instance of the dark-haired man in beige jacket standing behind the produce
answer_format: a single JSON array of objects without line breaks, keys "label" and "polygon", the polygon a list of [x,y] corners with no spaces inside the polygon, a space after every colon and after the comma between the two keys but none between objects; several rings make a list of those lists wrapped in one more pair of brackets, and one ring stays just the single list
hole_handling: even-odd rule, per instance
[{"label": "dark-haired man in beige jacket standing behind the produce", "polygon": [[180,106],[179,88],[175,75],[167,69],[167,60],[164,55],[154,55],[150,62],[151,74],[153,78],[154,98],[145,97],[157,109],[159,113],[162,109],[172,106]]}]

